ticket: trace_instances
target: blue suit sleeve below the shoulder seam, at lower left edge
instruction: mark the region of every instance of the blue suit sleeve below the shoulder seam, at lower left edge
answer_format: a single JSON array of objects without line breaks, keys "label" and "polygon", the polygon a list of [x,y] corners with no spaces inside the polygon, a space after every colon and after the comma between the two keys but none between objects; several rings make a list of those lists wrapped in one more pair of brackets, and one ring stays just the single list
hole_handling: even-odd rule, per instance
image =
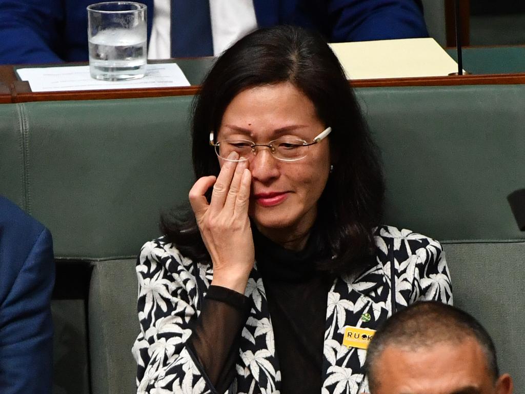
[{"label": "blue suit sleeve below the shoulder seam, at lower left edge", "polygon": [[51,392],[54,282],[53,243],[44,229],[0,305],[2,394]]}]

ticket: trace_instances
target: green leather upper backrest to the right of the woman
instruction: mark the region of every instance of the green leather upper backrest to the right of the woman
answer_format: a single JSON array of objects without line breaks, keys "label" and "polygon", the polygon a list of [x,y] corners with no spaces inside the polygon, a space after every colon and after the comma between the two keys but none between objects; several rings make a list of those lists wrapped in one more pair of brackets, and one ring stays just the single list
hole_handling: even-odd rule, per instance
[{"label": "green leather upper backrest to the right of the woman", "polygon": [[383,152],[385,221],[438,240],[522,239],[525,86],[359,90]]}]

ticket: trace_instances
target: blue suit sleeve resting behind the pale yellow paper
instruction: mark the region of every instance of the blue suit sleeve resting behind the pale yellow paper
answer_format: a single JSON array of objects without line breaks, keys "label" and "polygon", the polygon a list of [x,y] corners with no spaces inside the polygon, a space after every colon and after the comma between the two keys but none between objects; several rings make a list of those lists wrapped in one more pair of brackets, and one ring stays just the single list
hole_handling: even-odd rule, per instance
[{"label": "blue suit sleeve resting behind the pale yellow paper", "polygon": [[428,37],[418,0],[330,0],[331,42]]}]

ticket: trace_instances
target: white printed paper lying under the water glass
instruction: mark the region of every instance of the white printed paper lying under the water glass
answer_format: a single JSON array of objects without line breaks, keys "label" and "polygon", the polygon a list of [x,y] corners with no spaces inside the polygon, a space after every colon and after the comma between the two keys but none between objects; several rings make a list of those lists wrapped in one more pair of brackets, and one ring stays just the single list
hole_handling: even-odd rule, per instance
[{"label": "white printed paper lying under the water glass", "polygon": [[29,82],[34,92],[190,86],[176,63],[148,64],[143,78],[130,81],[93,79],[89,75],[89,66],[20,68],[16,72],[20,79]]}]

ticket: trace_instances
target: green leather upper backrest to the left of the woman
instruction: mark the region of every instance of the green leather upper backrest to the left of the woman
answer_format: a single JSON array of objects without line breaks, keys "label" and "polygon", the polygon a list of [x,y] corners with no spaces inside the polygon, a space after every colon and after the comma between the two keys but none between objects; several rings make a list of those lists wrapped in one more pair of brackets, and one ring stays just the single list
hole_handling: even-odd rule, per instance
[{"label": "green leather upper backrest to the left of the woman", "polygon": [[191,99],[16,105],[2,193],[49,227],[58,258],[134,256],[192,183]]}]

